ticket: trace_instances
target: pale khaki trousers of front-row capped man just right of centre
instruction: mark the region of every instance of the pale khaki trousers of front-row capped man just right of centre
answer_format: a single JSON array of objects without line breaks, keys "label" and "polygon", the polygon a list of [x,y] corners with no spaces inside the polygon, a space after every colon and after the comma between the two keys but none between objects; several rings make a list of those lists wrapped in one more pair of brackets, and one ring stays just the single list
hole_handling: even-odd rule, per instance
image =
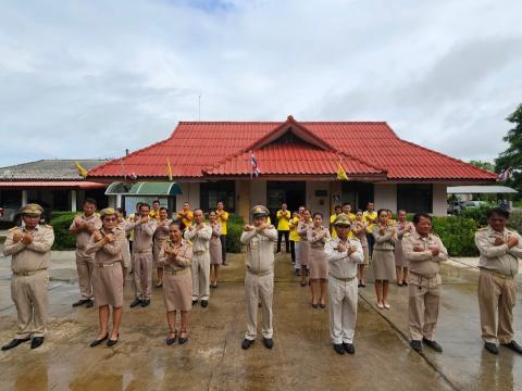
[{"label": "pale khaki trousers of front-row capped man just right of centre", "polygon": [[353,343],[357,320],[357,278],[340,281],[330,276],[330,336],[334,344]]}]

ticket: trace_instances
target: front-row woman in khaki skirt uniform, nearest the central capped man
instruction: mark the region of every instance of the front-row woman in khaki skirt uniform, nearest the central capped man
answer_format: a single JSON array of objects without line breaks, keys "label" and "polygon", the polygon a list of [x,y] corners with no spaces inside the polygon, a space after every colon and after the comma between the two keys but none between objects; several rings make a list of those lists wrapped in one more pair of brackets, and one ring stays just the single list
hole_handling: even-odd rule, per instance
[{"label": "front-row woman in khaki skirt uniform, nearest the central capped man", "polygon": [[192,276],[190,264],[192,244],[182,238],[181,222],[169,226],[169,240],[163,243],[160,252],[160,264],[163,265],[163,303],[166,310],[166,321],[170,332],[166,344],[176,342],[176,312],[181,312],[182,328],[179,344],[187,342],[187,328],[192,310]]}]

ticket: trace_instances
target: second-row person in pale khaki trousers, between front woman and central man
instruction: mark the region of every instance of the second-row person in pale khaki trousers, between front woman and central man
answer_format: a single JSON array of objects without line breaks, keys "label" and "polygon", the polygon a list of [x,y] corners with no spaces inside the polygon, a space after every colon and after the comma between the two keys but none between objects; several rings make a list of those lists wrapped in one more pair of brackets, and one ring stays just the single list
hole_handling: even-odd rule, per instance
[{"label": "second-row person in pale khaki trousers, between front woman and central man", "polygon": [[203,223],[203,211],[194,211],[194,225],[185,229],[183,237],[192,242],[192,305],[201,300],[201,306],[209,305],[210,298],[210,239],[212,228]]}]

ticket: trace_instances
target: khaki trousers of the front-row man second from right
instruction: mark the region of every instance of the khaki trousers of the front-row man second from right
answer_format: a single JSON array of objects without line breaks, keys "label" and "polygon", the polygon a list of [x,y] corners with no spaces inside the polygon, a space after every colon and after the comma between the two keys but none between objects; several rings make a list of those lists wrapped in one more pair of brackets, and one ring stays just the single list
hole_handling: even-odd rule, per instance
[{"label": "khaki trousers of the front-row man second from right", "polygon": [[420,341],[435,339],[435,328],[440,307],[440,275],[433,278],[421,277],[415,274],[408,276],[408,325],[412,340]]}]

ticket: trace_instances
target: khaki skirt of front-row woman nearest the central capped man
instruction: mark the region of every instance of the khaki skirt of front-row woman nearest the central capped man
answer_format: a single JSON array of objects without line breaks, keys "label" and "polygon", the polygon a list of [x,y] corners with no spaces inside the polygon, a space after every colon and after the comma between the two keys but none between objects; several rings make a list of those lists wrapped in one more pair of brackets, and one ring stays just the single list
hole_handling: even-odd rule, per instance
[{"label": "khaki skirt of front-row woman nearest the central capped man", "polygon": [[192,308],[192,276],[190,268],[178,275],[165,270],[163,275],[163,303],[166,312]]}]

